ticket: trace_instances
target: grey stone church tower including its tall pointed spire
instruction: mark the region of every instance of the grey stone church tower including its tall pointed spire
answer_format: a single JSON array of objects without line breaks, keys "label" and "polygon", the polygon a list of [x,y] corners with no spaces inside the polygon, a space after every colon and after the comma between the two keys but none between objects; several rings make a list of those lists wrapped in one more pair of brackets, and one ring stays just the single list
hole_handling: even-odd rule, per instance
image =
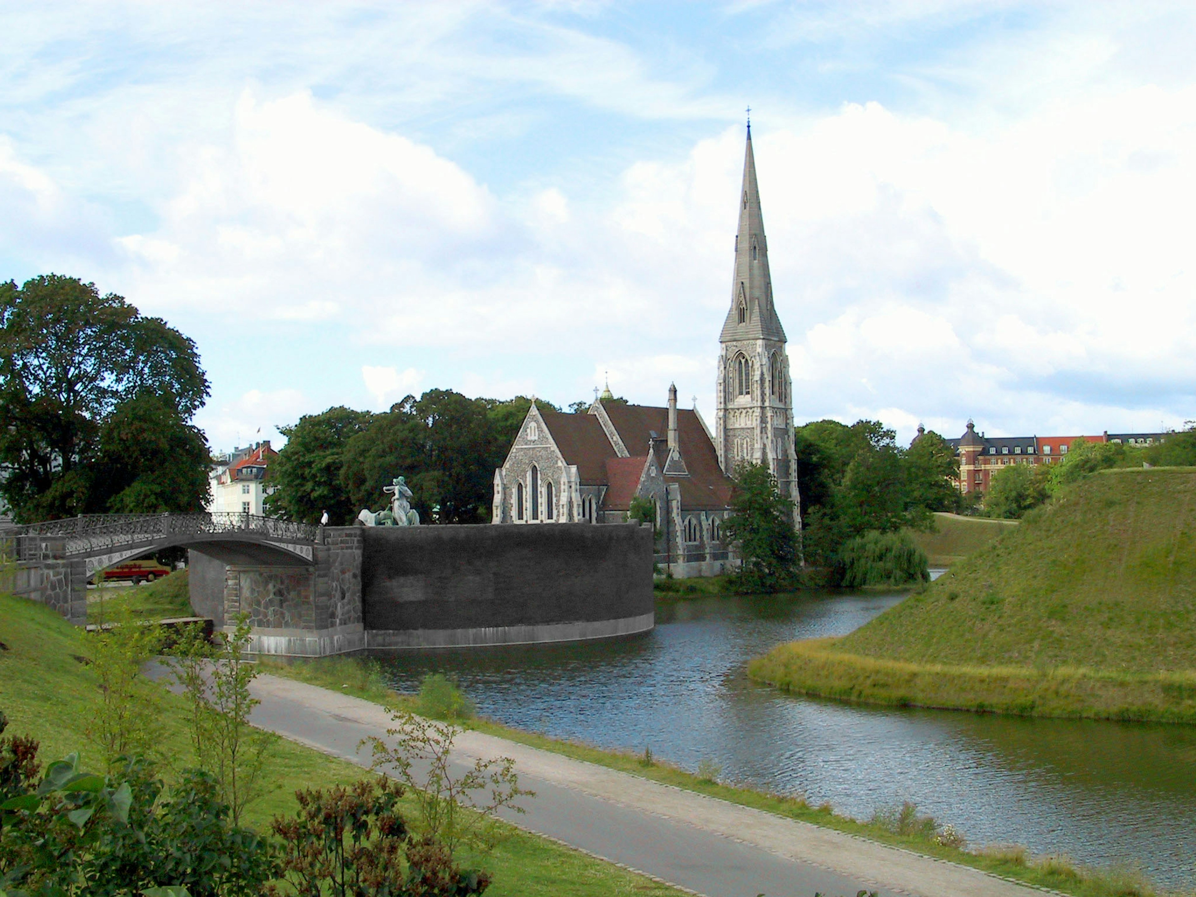
[{"label": "grey stone church tower including its tall pointed spire", "polygon": [[[768,271],[768,242],[756,185],[751,122],[739,195],[736,234],[736,274],[731,310],[719,337],[715,385],[715,444],[722,470],[732,475],[742,462],[767,464],[781,494],[798,501],[797,457],[793,444],[793,391],[785,329],[773,305]],[[794,508],[794,523],[800,515]]]}]

